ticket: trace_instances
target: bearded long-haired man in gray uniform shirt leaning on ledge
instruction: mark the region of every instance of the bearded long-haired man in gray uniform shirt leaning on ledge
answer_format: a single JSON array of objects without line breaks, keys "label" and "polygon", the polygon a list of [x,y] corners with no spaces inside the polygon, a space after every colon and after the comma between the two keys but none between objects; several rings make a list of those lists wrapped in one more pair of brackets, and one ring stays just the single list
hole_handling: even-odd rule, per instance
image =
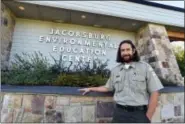
[{"label": "bearded long-haired man in gray uniform shirt leaning on ledge", "polygon": [[150,123],[158,103],[158,90],[163,86],[152,67],[139,60],[137,50],[130,40],[120,43],[117,62],[105,86],[83,88],[90,91],[114,91],[114,123]]}]

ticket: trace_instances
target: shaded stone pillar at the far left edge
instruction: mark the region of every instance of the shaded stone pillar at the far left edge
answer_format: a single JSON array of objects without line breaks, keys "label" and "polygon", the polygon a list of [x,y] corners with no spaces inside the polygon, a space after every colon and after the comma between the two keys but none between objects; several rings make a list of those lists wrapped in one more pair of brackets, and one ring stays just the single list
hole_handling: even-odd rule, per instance
[{"label": "shaded stone pillar at the far left edge", "polygon": [[8,65],[14,27],[15,16],[1,3],[1,69],[5,69]]}]

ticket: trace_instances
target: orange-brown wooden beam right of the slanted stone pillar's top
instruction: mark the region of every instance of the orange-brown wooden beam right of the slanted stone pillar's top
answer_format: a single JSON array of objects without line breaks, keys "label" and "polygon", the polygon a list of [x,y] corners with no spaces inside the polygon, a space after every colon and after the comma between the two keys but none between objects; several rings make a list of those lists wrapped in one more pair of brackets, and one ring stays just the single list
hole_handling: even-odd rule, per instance
[{"label": "orange-brown wooden beam right of the slanted stone pillar's top", "polygon": [[169,39],[175,39],[175,40],[182,40],[184,41],[184,33],[183,32],[173,32],[173,31],[167,31]]}]

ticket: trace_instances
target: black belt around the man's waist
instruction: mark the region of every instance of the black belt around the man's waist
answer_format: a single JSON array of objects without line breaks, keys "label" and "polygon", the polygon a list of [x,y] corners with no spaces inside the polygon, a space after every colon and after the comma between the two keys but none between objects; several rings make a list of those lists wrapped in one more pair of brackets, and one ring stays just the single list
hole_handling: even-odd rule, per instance
[{"label": "black belt around the man's waist", "polygon": [[121,108],[125,111],[147,111],[147,106],[142,105],[142,106],[129,106],[129,105],[120,105],[116,104],[116,107]]}]

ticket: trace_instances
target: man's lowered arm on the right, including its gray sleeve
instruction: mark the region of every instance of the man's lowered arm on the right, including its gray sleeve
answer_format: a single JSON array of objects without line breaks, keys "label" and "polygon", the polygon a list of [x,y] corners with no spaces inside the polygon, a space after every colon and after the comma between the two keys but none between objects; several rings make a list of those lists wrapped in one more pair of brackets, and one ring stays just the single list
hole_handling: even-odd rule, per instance
[{"label": "man's lowered arm on the right, including its gray sleeve", "polygon": [[148,103],[148,110],[146,116],[149,120],[152,119],[153,114],[155,113],[155,109],[158,104],[158,97],[159,97],[159,90],[163,88],[161,81],[159,80],[158,76],[154,72],[153,68],[147,64],[147,89],[150,93],[150,99]]}]

